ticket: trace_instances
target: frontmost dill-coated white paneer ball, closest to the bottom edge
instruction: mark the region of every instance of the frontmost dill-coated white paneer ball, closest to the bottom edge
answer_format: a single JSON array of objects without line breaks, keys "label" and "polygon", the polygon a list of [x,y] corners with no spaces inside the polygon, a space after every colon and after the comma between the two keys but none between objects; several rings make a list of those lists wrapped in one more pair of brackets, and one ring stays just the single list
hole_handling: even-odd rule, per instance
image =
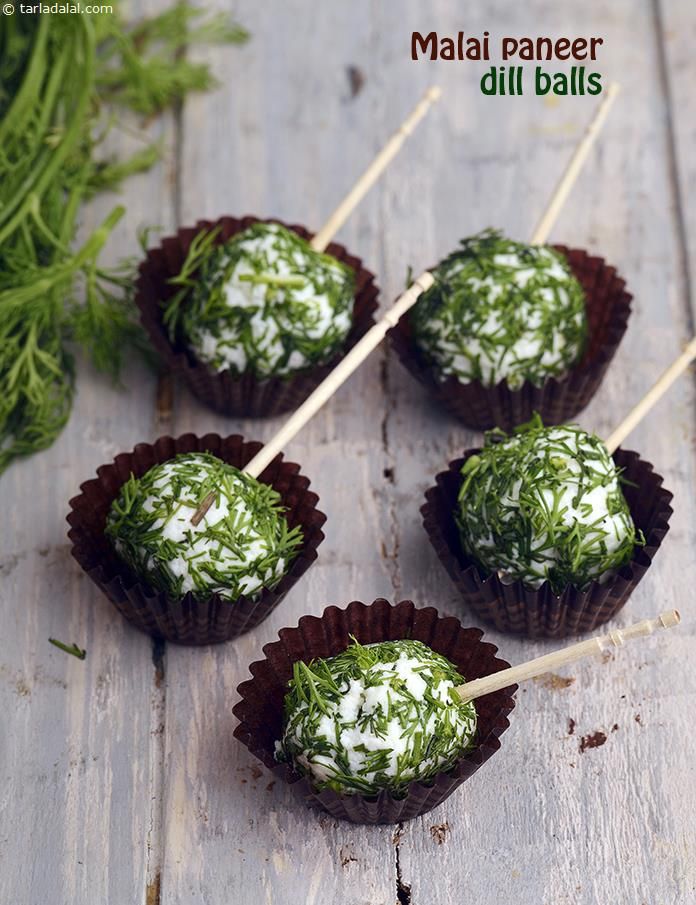
[{"label": "frontmost dill-coated white paneer ball, closest to the bottom edge", "polygon": [[363,795],[454,766],[473,744],[476,710],[464,678],[420,641],[353,643],[326,660],[294,664],[278,760],[315,788]]}]

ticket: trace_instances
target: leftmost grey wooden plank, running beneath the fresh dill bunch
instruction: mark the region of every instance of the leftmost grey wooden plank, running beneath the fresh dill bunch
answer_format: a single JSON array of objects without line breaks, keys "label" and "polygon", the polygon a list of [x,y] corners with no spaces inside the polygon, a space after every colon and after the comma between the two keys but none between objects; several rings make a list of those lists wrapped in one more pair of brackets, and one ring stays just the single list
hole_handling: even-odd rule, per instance
[{"label": "leftmost grey wooden plank, running beneath the fresh dill bunch", "polygon": [[[166,139],[170,125],[153,126],[151,138]],[[114,152],[138,147],[118,130],[109,141]],[[119,202],[128,213],[105,263],[135,252],[140,223],[167,225],[167,164],[89,205],[81,234]],[[150,434],[152,375],[132,362],[124,384],[118,390],[80,362],[63,435],[1,479],[3,902],[145,902],[158,870],[152,798],[161,776],[161,716],[152,644],[72,560],[65,523],[80,482]],[[49,637],[77,642],[86,660],[52,647]]]}]

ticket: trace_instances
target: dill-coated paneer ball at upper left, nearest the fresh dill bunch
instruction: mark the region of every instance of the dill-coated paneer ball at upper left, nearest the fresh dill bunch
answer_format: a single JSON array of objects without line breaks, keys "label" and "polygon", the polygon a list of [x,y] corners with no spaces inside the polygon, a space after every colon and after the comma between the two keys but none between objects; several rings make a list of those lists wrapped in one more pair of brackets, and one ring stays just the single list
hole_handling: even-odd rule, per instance
[{"label": "dill-coated paneer ball at upper left, nearest the fresh dill bunch", "polygon": [[338,352],[354,293],[350,267],[278,223],[256,223],[208,249],[178,317],[214,370],[283,377]]}]

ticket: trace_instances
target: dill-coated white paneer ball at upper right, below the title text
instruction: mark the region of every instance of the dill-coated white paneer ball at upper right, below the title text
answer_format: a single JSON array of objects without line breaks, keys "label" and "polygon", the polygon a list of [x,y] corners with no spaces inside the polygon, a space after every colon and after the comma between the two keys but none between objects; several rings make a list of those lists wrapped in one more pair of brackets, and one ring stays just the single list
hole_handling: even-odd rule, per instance
[{"label": "dill-coated white paneer ball at upper right, below the title text", "polygon": [[577,364],[587,342],[585,293],[562,254],[484,230],[434,269],[413,308],[415,342],[442,379],[511,389]]}]

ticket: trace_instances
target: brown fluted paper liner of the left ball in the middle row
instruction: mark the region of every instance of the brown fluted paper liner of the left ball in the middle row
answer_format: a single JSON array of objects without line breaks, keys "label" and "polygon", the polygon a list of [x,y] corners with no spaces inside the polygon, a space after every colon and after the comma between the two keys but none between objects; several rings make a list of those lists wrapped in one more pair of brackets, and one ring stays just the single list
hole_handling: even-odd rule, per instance
[{"label": "brown fluted paper liner of the left ball in the middle row", "polygon": [[263,622],[317,558],[326,516],[317,509],[319,497],[308,489],[309,479],[300,474],[300,466],[283,461],[282,455],[271,462],[259,480],[272,484],[278,491],[288,510],[289,525],[301,525],[304,540],[281,582],[273,590],[263,590],[260,596],[240,597],[234,603],[217,594],[203,601],[194,600],[190,593],[181,599],[172,598],[141,581],[118,557],[105,536],[111,503],[131,473],[140,477],[153,465],[187,452],[210,452],[242,468],[261,446],[261,443],[246,443],[238,435],[224,439],[218,434],[160,437],[153,444],[139,443],[132,452],[116,456],[112,464],[102,465],[97,469],[97,477],[82,484],[82,492],[70,500],[67,519],[72,555],[136,628],[177,644],[229,641]]}]

